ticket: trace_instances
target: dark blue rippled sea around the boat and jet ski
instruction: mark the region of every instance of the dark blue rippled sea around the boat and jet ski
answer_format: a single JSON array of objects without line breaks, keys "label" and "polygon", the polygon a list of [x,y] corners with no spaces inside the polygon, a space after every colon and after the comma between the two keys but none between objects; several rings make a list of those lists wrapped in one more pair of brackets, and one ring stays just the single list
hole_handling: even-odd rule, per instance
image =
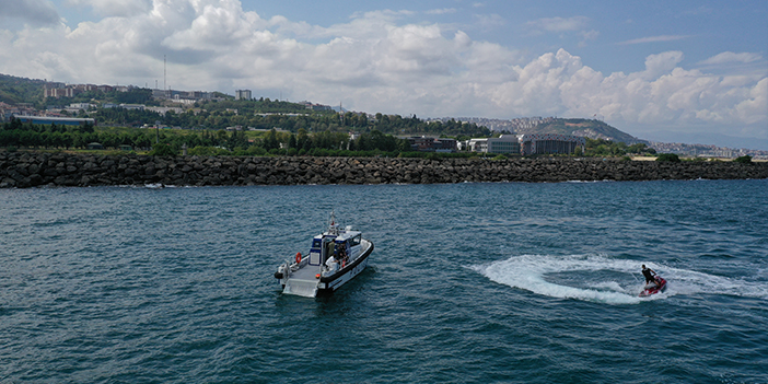
[{"label": "dark blue rippled sea around the boat and jet ski", "polygon": [[0,382],[767,383],[768,181],[2,189]]}]

